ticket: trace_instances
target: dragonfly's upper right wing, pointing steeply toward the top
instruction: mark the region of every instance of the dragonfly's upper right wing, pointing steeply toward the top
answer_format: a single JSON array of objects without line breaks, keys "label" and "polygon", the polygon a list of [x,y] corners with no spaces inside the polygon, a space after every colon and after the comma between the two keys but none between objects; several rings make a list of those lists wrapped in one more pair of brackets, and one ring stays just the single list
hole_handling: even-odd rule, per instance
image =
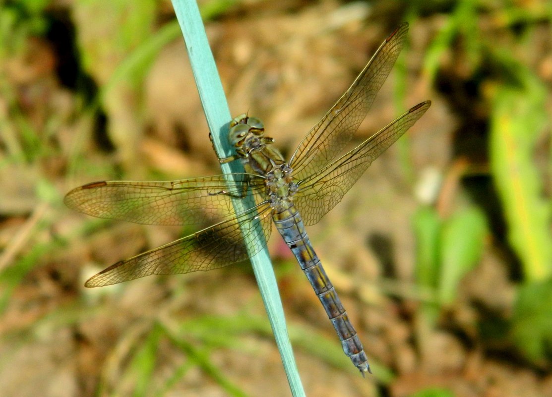
[{"label": "dragonfly's upper right wing, pointing steeply toward the top", "polygon": [[297,179],[316,173],[351,140],[399,57],[407,31],[408,24],[402,23],[381,44],[347,92],[303,138],[290,160]]}]

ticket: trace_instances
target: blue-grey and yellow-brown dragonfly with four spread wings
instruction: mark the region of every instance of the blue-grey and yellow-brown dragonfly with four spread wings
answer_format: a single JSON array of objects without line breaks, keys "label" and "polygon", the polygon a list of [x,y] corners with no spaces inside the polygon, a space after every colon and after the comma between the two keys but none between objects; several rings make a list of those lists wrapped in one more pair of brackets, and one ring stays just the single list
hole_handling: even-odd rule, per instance
[{"label": "blue-grey and yellow-brown dragonfly with four spread wings", "polygon": [[[71,190],[68,207],[99,217],[155,225],[193,225],[198,232],[122,260],[89,278],[86,287],[101,287],[148,275],[206,271],[248,259],[244,239],[255,237],[250,254],[264,248],[273,224],[295,255],[320,299],[344,353],[364,376],[370,371],[347,312],[311,245],[305,226],[330,211],[375,158],[388,149],[427,111],[424,101],[344,153],[388,77],[404,45],[402,23],[330,111],[303,138],[290,160],[264,135],[263,122],[240,115],[230,122],[229,141],[245,173],[176,181],[101,181]],[[251,200],[235,212],[232,200]],[[258,225],[260,224],[260,227]],[[261,237],[258,239],[257,237]],[[251,240],[251,239],[249,239]]]}]

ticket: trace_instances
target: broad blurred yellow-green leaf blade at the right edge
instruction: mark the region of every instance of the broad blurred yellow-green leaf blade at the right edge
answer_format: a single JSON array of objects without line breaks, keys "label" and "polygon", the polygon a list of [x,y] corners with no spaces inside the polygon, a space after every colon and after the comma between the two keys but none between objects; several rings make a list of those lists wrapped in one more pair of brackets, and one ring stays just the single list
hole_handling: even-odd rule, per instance
[{"label": "broad blurred yellow-green leaf blade at the right edge", "polygon": [[542,196],[533,149],[543,128],[540,89],[501,87],[491,115],[491,168],[508,222],[508,238],[527,281],[544,280],[552,268],[550,208]]}]

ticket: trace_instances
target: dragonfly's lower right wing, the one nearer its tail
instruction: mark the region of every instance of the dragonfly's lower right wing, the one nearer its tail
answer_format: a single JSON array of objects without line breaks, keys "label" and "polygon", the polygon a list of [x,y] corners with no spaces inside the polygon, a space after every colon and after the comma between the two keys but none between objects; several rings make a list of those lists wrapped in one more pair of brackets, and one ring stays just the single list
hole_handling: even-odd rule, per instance
[{"label": "dragonfly's lower right wing, the one nearer its tail", "polygon": [[385,152],[429,109],[430,101],[417,104],[368,140],[328,164],[316,174],[299,181],[295,205],[307,226],[315,224],[330,211],[374,159]]}]

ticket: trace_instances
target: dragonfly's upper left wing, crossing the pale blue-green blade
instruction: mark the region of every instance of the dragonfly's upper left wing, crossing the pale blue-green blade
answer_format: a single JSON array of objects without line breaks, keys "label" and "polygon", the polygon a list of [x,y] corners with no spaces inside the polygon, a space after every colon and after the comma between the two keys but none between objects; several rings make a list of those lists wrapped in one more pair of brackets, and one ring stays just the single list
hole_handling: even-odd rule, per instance
[{"label": "dragonfly's upper left wing, crossing the pale blue-green blade", "polygon": [[[65,204],[98,218],[159,224],[209,226],[235,216],[232,196],[257,196],[263,200],[263,180],[255,175],[233,174],[183,179],[172,182],[103,181],[71,190]],[[251,189],[248,189],[250,187]]]}]

